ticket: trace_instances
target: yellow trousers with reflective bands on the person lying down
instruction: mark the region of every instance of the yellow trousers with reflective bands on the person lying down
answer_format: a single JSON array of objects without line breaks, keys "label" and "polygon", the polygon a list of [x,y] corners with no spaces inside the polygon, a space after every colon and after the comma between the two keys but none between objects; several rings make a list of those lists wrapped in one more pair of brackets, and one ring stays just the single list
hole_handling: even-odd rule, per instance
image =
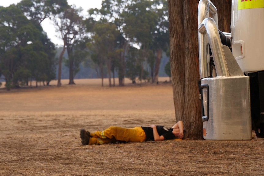
[{"label": "yellow trousers with reflective bands on the person lying down", "polygon": [[110,126],[104,131],[96,131],[90,133],[92,136],[89,145],[92,144],[108,144],[118,140],[126,142],[143,142],[146,140],[146,134],[141,127],[122,128],[118,126]]}]

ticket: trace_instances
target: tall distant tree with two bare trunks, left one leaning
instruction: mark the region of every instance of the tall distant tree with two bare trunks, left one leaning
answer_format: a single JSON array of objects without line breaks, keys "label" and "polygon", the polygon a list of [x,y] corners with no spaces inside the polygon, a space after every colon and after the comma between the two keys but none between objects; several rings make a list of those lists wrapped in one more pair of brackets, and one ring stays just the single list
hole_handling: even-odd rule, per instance
[{"label": "tall distant tree with two bare trunks, left one leaning", "polygon": [[[59,58],[58,76],[61,72],[62,55],[64,51],[67,51],[68,56],[71,56],[73,51],[74,42],[81,39],[85,35],[85,25],[83,17],[81,16],[82,9],[71,6],[64,9],[63,12],[58,13],[52,17],[61,39],[64,42],[64,47]],[[74,58],[69,57],[69,84],[74,83]],[[60,77],[58,77],[57,86],[61,86]]]}]

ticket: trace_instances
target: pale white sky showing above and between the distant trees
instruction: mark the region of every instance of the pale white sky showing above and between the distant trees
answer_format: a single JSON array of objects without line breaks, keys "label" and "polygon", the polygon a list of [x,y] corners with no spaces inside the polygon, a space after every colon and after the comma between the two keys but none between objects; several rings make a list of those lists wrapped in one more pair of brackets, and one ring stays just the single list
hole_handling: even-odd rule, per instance
[{"label": "pale white sky showing above and between the distant trees", "polygon": [[[0,6],[9,6],[10,4],[17,4],[21,2],[21,0],[0,0]],[[88,9],[91,8],[100,8],[102,0],[68,0],[68,4],[75,5],[76,7],[83,8],[84,15],[86,14]],[[48,37],[55,44],[62,45],[63,41],[56,37],[55,27],[52,22],[48,19],[45,19],[41,23],[43,30],[47,32]]]}]

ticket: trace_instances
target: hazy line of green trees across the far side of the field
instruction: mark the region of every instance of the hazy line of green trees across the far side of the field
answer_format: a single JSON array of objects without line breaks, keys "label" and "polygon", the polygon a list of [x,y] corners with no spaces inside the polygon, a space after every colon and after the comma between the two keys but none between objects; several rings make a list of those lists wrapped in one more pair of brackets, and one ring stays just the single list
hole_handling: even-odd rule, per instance
[{"label": "hazy line of green trees across the far side of the field", "polygon": [[[22,0],[0,6],[0,75],[9,90],[31,81],[124,78],[157,82],[170,77],[166,0],[104,0],[101,9],[67,0]],[[64,45],[55,47],[41,27],[50,19]],[[165,69],[166,68],[166,69]],[[165,75],[166,73],[166,75]],[[102,81],[103,86],[103,81]]]}]

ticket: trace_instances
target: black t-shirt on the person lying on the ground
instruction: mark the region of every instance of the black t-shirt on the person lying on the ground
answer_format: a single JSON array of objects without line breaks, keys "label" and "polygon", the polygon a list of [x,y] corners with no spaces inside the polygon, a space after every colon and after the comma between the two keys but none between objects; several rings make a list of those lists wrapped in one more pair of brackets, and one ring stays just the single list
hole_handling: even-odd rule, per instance
[{"label": "black t-shirt on the person lying on the ground", "polygon": [[[172,128],[168,129],[164,126],[156,126],[157,127],[157,132],[160,136],[163,136],[165,140],[169,139],[175,139],[175,135],[172,133]],[[142,127],[141,128],[145,131],[146,133],[146,141],[147,140],[154,140],[153,136],[153,129],[151,127]]]}]

